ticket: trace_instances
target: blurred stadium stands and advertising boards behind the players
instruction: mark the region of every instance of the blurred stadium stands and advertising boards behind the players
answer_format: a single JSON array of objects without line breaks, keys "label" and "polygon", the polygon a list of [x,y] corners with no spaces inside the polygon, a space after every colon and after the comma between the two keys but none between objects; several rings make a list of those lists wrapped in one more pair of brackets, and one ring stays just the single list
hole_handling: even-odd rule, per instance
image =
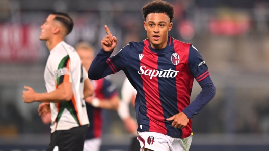
[{"label": "blurred stadium stands and advertising boards behind the players", "polygon": [[[66,41],[90,42],[97,53],[106,34],[118,38],[116,51],[146,38],[141,9],[149,1],[0,0],[0,150],[44,150],[49,125],[39,103],[25,104],[23,86],[45,92],[49,54],[40,26],[53,11],[68,12],[74,29]],[[209,66],[214,99],[193,118],[191,150],[268,150],[269,2],[265,0],[178,0],[170,36],[192,43]],[[110,76],[120,90],[123,72]],[[192,100],[200,92],[194,83]],[[132,114],[133,114],[132,110]],[[101,150],[126,150],[130,135],[116,112],[104,111]]]}]

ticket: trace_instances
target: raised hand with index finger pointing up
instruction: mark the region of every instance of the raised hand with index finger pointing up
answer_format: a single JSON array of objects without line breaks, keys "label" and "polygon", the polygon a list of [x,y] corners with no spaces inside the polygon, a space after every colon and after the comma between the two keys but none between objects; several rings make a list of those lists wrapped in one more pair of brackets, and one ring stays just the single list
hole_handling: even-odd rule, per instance
[{"label": "raised hand with index finger pointing up", "polygon": [[104,25],[106,36],[101,40],[101,45],[104,51],[113,51],[117,45],[117,38],[110,33],[109,27]]}]

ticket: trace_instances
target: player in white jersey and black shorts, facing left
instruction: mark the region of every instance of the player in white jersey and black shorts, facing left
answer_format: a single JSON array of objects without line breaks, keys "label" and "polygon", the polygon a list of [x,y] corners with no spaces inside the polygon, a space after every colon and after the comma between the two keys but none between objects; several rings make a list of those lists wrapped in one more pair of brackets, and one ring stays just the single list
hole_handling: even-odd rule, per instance
[{"label": "player in white jersey and black shorts, facing left", "polygon": [[46,150],[83,150],[89,120],[84,97],[93,95],[93,86],[75,49],[64,42],[73,28],[66,13],[51,13],[41,26],[40,40],[46,41],[50,55],[44,78],[47,93],[36,93],[25,86],[25,103],[43,102],[39,114],[51,111],[51,140]]}]

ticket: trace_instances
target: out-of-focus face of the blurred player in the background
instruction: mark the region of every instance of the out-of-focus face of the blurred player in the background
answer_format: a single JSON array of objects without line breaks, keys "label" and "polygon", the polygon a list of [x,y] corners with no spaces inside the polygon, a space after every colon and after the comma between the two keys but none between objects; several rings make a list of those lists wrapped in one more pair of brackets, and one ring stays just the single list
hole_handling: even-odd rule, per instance
[{"label": "out-of-focus face of the blurred player in the background", "polygon": [[82,48],[79,48],[76,51],[77,51],[80,59],[82,60],[82,66],[88,72],[88,70],[92,64],[92,61],[94,59],[93,51],[88,50],[88,49],[82,49]]}]

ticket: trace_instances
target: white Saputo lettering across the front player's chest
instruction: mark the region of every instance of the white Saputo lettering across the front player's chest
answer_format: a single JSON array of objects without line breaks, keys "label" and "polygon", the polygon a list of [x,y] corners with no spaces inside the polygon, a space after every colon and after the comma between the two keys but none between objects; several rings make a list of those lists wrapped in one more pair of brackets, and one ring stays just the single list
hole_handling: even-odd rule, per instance
[{"label": "white Saputo lettering across the front player's chest", "polygon": [[[140,66],[140,71],[138,71],[138,74],[140,75],[147,75],[150,77],[150,79],[152,79],[152,77],[163,77],[163,78],[174,78],[176,77],[177,73],[179,71],[175,71],[175,70],[172,70],[171,68],[169,70],[149,70],[149,69],[146,69],[146,66]],[[146,70],[144,70],[146,69]]]}]

